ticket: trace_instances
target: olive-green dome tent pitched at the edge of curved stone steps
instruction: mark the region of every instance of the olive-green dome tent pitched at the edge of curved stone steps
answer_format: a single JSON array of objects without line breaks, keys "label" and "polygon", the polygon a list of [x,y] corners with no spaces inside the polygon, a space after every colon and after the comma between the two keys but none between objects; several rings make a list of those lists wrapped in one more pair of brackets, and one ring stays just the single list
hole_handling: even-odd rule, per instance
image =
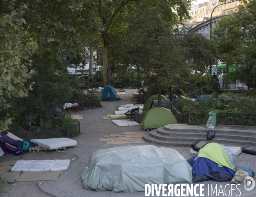
[{"label": "olive-green dome tent pitched at the edge of curved stone steps", "polygon": [[177,124],[172,112],[163,107],[156,107],[145,113],[140,125],[143,129],[157,129],[166,124]]}]

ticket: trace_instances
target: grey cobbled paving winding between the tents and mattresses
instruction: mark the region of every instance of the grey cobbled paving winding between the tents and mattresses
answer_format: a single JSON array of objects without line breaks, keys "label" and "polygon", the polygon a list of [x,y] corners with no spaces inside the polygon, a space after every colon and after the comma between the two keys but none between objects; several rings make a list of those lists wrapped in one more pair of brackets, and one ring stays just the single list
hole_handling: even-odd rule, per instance
[{"label": "grey cobbled paving winding between the tents and mattresses", "polygon": [[[140,126],[133,127],[117,127],[115,124],[111,122],[111,120],[104,120],[102,116],[106,116],[108,114],[114,114],[116,110],[116,106],[120,106],[122,104],[131,104],[132,92],[136,90],[127,89],[126,93],[122,94],[120,97],[121,101],[102,101],[102,107],[94,110],[81,110],[77,111],[73,114],[84,115],[84,119],[79,120],[81,122],[81,135],[76,138],[73,138],[77,141],[77,146],[72,147],[72,153],[79,157],[76,162],[73,162],[70,165],[70,168],[62,172],[61,176],[58,177],[57,180],[49,180],[49,181],[38,181],[38,186],[48,194],[54,195],[56,197],[143,197],[145,196],[145,192],[135,192],[135,193],[114,193],[112,191],[94,191],[94,190],[86,190],[81,186],[80,176],[84,172],[84,169],[87,167],[87,164],[90,160],[90,156],[93,152],[99,149],[107,149],[117,146],[126,146],[126,145],[107,145],[105,142],[99,142],[99,138],[103,138],[103,135],[110,134],[121,134],[125,131],[143,131]],[[148,145],[150,143],[140,143],[133,145]],[[168,146],[159,146],[152,144],[158,147],[168,147]],[[169,147],[172,149],[176,149],[180,152],[184,158],[189,159],[192,157],[189,154],[189,147]],[[256,172],[256,156],[247,155],[241,153],[236,160],[236,168],[241,168],[244,166],[250,167],[253,171]],[[182,169],[180,169],[182,170]],[[230,182],[215,182],[215,181],[207,181],[202,182],[205,184],[204,196],[208,195],[208,185],[212,185],[215,188],[217,185],[218,191],[222,186],[223,192],[224,188]],[[232,196],[250,196],[256,197],[256,188],[251,191],[245,191],[244,185],[238,186],[239,190],[236,189],[236,186],[233,186]],[[230,196],[228,195],[228,189],[230,190],[230,185],[226,186],[226,195],[225,193],[219,193],[217,196]],[[220,190],[221,191],[221,190]],[[154,193],[156,196],[156,194]],[[19,195],[17,195],[19,196]],[[160,195],[162,196],[162,195]],[[212,194],[212,196],[216,196]]]}]

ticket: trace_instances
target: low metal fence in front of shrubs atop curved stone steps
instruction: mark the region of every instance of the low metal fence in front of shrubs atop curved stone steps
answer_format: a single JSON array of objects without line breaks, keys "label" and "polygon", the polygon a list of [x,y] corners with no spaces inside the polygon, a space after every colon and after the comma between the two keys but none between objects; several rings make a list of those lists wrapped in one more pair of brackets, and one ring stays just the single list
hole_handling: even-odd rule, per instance
[{"label": "low metal fence in front of shrubs atop curved stone steps", "polygon": [[[209,113],[178,114],[172,111],[179,124],[206,124]],[[218,113],[218,124],[256,126],[256,114]]]}]

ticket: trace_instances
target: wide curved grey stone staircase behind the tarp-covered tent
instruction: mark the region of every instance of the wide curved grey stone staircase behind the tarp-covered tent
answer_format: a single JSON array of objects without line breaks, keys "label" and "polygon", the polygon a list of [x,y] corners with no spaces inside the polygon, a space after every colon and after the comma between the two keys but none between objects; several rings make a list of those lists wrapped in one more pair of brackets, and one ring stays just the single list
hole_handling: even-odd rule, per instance
[{"label": "wide curved grey stone staircase behind the tarp-covered tent", "polygon": [[[215,131],[215,137],[212,140],[207,140],[209,130]],[[215,129],[206,129],[205,125],[168,124],[144,133],[143,139],[165,146],[191,146],[195,141],[202,140],[245,148],[256,147],[256,130],[241,130],[224,125],[218,125]]]}]

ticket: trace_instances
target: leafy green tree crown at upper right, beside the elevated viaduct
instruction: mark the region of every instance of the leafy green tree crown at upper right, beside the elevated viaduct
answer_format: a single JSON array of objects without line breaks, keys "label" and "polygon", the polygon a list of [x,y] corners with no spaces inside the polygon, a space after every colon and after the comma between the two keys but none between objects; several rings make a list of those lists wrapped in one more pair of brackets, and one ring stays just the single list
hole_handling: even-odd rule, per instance
[{"label": "leafy green tree crown at upper right, beside the elevated viaduct", "polygon": [[[246,77],[255,88],[256,85],[256,0],[239,11],[216,23],[213,39],[218,45],[221,59],[227,65],[237,64],[238,77]],[[239,78],[238,78],[239,79]]]}]

